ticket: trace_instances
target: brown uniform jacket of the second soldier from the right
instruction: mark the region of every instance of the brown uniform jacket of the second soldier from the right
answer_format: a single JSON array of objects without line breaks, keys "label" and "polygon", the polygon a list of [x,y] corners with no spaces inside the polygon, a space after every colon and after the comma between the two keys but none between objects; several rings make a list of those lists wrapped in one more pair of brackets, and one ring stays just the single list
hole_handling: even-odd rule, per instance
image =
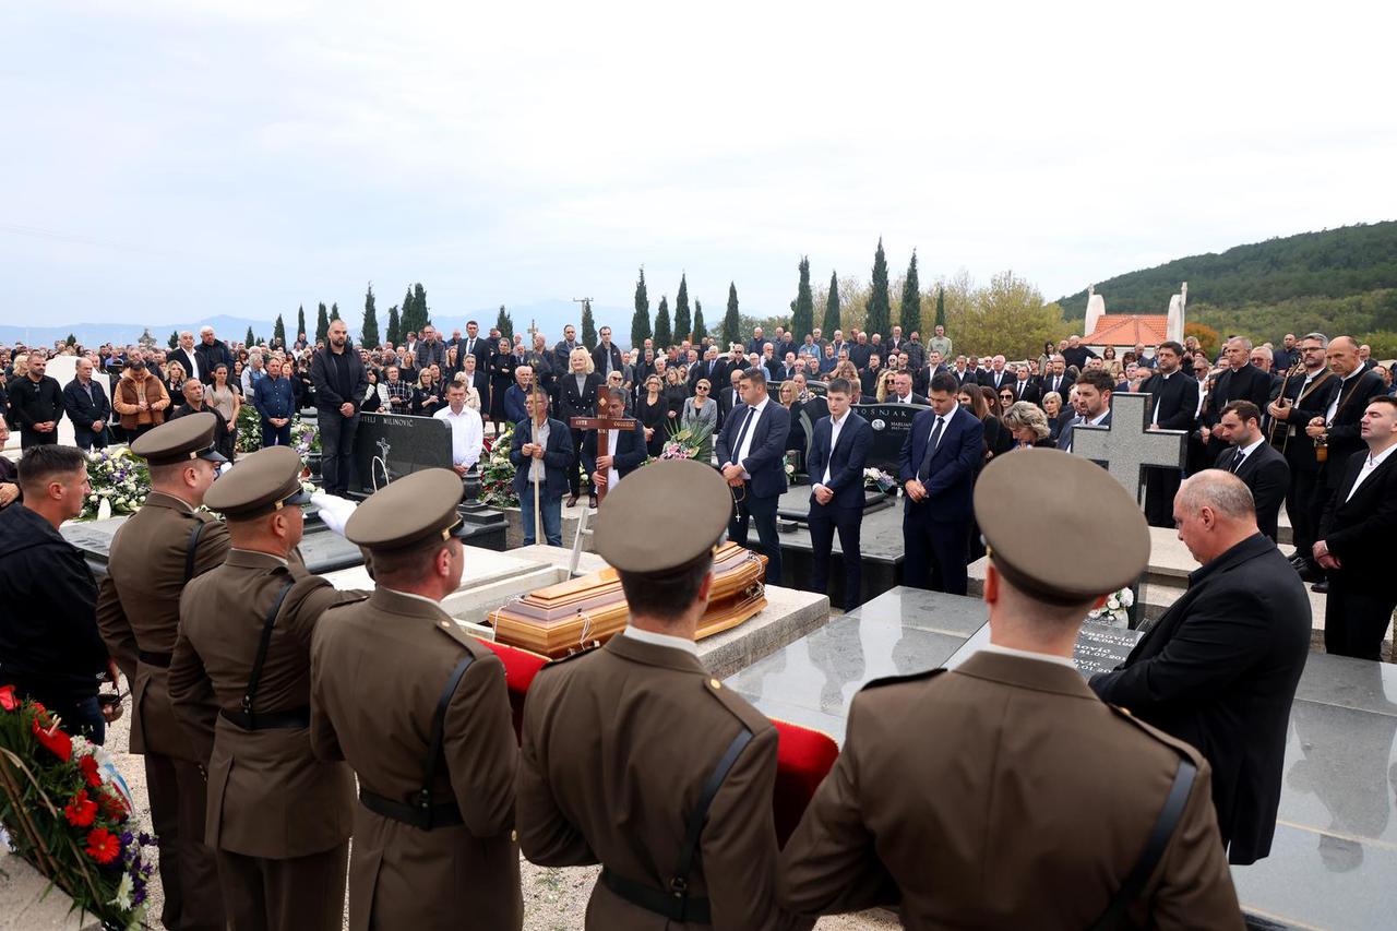
[{"label": "brown uniform jacket of the second soldier from the right", "polygon": [[[708,900],[715,928],[791,927],[775,900],[777,731],[686,650],[622,635],[549,664],[534,679],[520,756],[524,856],[545,867],[601,863],[608,875],[668,893],[689,815],[743,730],[752,741],[712,797],[689,896]],[[710,925],[672,921],[602,879],[587,927]]]}]

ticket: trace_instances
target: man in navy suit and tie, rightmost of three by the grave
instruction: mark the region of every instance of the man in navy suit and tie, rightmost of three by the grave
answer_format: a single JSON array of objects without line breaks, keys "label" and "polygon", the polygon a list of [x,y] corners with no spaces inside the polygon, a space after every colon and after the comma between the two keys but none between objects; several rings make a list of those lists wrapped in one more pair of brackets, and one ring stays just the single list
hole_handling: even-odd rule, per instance
[{"label": "man in navy suit and tie, rightmost of three by the grave", "polygon": [[960,384],[942,372],[932,377],[929,411],[912,419],[902,442],[898,481],[907,495],[902,510],[902,583],[965,594],[975,471],[985,456],[985,425],[956,403]]}]

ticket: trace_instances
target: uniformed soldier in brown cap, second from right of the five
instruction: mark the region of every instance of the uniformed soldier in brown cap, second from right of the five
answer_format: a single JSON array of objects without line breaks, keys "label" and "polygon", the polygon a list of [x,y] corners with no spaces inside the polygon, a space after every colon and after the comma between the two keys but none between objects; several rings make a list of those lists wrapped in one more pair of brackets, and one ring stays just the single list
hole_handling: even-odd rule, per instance
[{"label": "uniformed soldier in brown cap, second from right of the five", "polygon": [[[672,520],[634,520],[657,509]],[[594,540],[630,625],[529,688],[520,844],[546,867],[602,864],[588,928],[788,924],[775,903],[775,728],[694,646],[729,509],[726,485],[694,460],[617,485]]]}]

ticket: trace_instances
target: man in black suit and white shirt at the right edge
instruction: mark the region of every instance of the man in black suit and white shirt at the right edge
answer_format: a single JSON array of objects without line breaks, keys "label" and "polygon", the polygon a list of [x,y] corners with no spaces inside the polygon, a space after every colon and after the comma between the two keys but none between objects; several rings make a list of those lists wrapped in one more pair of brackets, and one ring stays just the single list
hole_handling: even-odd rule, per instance
[{"label": "man in black suit and white shirt at the right edge", "polygon": [[[1397,533],[1397,398],[1369,398],[1359,426],[1368,449],[1343,464],[1324,507],[1313,554],[1329,573],[1324,651],[1380,660],[1397,586],[1391,540]],[[1331,463],[1333,464],[1333,463]]]}]

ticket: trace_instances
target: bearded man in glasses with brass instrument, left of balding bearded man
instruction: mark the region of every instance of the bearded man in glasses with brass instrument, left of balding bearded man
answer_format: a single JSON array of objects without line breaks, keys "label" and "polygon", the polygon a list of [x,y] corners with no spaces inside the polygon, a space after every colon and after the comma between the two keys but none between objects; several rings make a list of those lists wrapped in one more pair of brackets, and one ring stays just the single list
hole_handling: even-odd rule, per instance
[{"label": "bearded man in glasses with brass instrument, left of balding bearded man", "polygon": [[1275,424],[1274,442],[1291,467],[1291,486],[1285,492],[1285,513],[1289,514],[1295,541],[1291,565],[1306,582],[1323,577],[1310,549],[1327,496],[1319,492],[1320,463],[1315,457],[1315,440],[1305,433],[1305,428],[1316,418],[1323,421],[1343,380],[1324,365],[1327,349],[1329,337],[1323,333],[1301,337],[1295,351],[1302,369],[1285,380],[1281,396],[1267,408]]}]

